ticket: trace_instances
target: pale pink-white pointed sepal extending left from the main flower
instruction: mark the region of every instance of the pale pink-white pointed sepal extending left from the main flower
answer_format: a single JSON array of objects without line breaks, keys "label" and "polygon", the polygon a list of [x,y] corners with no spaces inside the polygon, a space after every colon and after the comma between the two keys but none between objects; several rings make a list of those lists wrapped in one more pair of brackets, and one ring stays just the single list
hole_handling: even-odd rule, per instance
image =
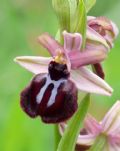
[{"label": "pale pink-white pointed sepal extending left from the main flower", "polygon": [[22,56],[16,57],[14,61],[28,71],[34,74],[39,74],[48,72],[48,64],[51,60],[51,57]]}]

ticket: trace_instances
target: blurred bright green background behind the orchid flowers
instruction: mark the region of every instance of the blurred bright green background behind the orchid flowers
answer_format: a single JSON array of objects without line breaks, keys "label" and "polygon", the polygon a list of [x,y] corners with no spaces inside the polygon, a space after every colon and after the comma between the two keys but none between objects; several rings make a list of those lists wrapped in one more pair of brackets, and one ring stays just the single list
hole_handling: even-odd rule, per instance
[{"label": "blurred bright green background behind the orchid flowers", "polygon": [[[90,12],[107,16],[120,27],[120,0],[97,0]],[[53,125],[30,119],[19,105],[19,93],[32,74],[13,62],[21,55],[48,55],[37,44],[42,32],[55,35],[57,18],[51,0],[0,0],[0,151],[53,151]],[[120,39],[104,63],[107,82],[114,88],[111,98],[93,95],[89,111],[101,119],[120,99]],[[98,107],[99,106],[99,107]]]}]

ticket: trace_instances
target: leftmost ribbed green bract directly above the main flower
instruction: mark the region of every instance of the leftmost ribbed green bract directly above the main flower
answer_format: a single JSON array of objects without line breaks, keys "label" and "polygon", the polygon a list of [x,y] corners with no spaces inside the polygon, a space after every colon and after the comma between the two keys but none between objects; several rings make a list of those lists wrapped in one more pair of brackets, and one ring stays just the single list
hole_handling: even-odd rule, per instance
[{"label": "leftmost ribbed green bract directly above the main flower", "polygon": [[60,30],[70,31],[70,5],[68,0],[52,0],[60,23]]}]

